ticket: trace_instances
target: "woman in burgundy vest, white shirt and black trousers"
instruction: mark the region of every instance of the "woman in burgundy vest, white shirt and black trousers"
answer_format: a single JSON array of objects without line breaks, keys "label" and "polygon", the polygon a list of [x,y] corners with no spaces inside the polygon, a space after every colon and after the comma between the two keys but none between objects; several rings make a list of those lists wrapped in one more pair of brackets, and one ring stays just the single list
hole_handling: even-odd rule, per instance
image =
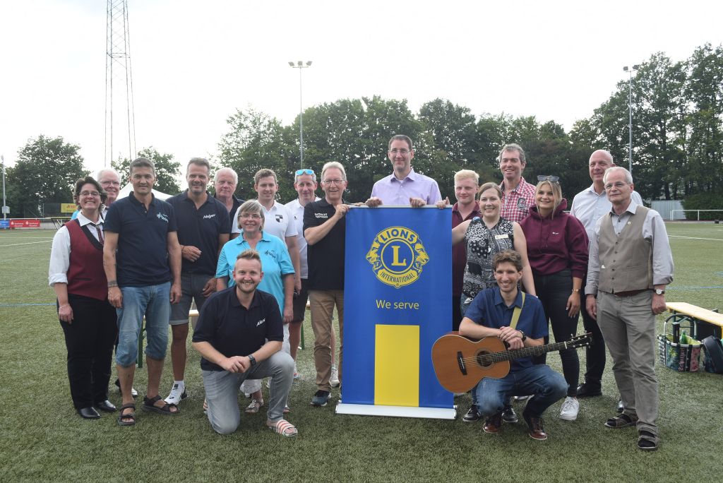
[{"label": "woman in burgundy vest, white shirt and black trousers", "polygon": [[116,340],[116,309],[108,303],[103,270],[103,203],[106,192],[86,176],[75,183],[76,219],[56,232],[48,281],[57,296],[58,318],[68,350],[73,406],[85,419],[116,411],[108,401],[108,380]]}]

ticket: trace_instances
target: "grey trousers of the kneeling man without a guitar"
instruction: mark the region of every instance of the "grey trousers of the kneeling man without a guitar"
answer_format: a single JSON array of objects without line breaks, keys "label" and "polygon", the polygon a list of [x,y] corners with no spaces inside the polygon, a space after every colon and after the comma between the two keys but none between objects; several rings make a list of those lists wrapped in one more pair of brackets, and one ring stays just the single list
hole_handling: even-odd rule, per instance
[{"label": "grey trousers of the kneeling man without a guitar", "polygon": [[201,371],[201,375],[208,403],[208,422],[215,432],[228,435],[236,431],[241,422],[239,387],[247,379],[271,377],[268,419],[283,419],[288,391],[294,382],[294,359],[286,352],[278,351],[244,373]]}]

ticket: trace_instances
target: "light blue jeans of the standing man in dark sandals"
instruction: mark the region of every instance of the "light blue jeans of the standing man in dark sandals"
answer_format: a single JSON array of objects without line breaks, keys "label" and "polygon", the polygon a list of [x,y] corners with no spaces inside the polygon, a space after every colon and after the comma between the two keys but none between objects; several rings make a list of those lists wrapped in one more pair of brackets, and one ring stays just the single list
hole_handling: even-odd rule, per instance
[{"label": "light blue jeans of the standing man in dark sandals", "polygon": [[163,360],[168,346],[168,317],[171,315],[171,282],[143,287],[121,287],[123,306],[118,314],[116,363],[130,367],[138,359],[138,338],[145,316],[145,355]]}]

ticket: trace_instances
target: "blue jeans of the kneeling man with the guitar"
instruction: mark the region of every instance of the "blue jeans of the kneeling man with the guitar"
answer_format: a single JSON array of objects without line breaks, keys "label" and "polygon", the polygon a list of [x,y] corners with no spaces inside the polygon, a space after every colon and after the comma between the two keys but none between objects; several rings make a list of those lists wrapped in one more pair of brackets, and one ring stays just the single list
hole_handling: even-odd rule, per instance
[{"label": "blue jeans of the kneeling man with the guitar", "polygon": [[485,377],[476,388],[477,411],[492,416],[502,411],[510,396],[533,395],[525,408],[530,417],[542,417],[545,409],[560,401],[568,392],[568,383],[560,373],[545,364],[534,364],[526,369],[492,379]]}]

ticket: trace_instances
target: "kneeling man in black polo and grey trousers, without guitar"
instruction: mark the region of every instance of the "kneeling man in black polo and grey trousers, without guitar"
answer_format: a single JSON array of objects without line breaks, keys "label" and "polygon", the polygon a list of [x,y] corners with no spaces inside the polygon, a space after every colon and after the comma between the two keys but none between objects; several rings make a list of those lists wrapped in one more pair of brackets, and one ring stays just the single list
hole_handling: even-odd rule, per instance
[{"label": "kneeling man in black polo and grey trousers, without guitar", "polygon": [[264,273],[259,253],[247,249],[236,257],[236,285],[216,292],[203,305],[193,334],[200,352],[208,402],[208,421],[222,435],[239,427],[239,387],[247,379],[271,377],[266,425],[283,436],[296,427],[283,419],[294,381],[294,359],[281,352],[283,321],[278,302],[257,290]]}]

